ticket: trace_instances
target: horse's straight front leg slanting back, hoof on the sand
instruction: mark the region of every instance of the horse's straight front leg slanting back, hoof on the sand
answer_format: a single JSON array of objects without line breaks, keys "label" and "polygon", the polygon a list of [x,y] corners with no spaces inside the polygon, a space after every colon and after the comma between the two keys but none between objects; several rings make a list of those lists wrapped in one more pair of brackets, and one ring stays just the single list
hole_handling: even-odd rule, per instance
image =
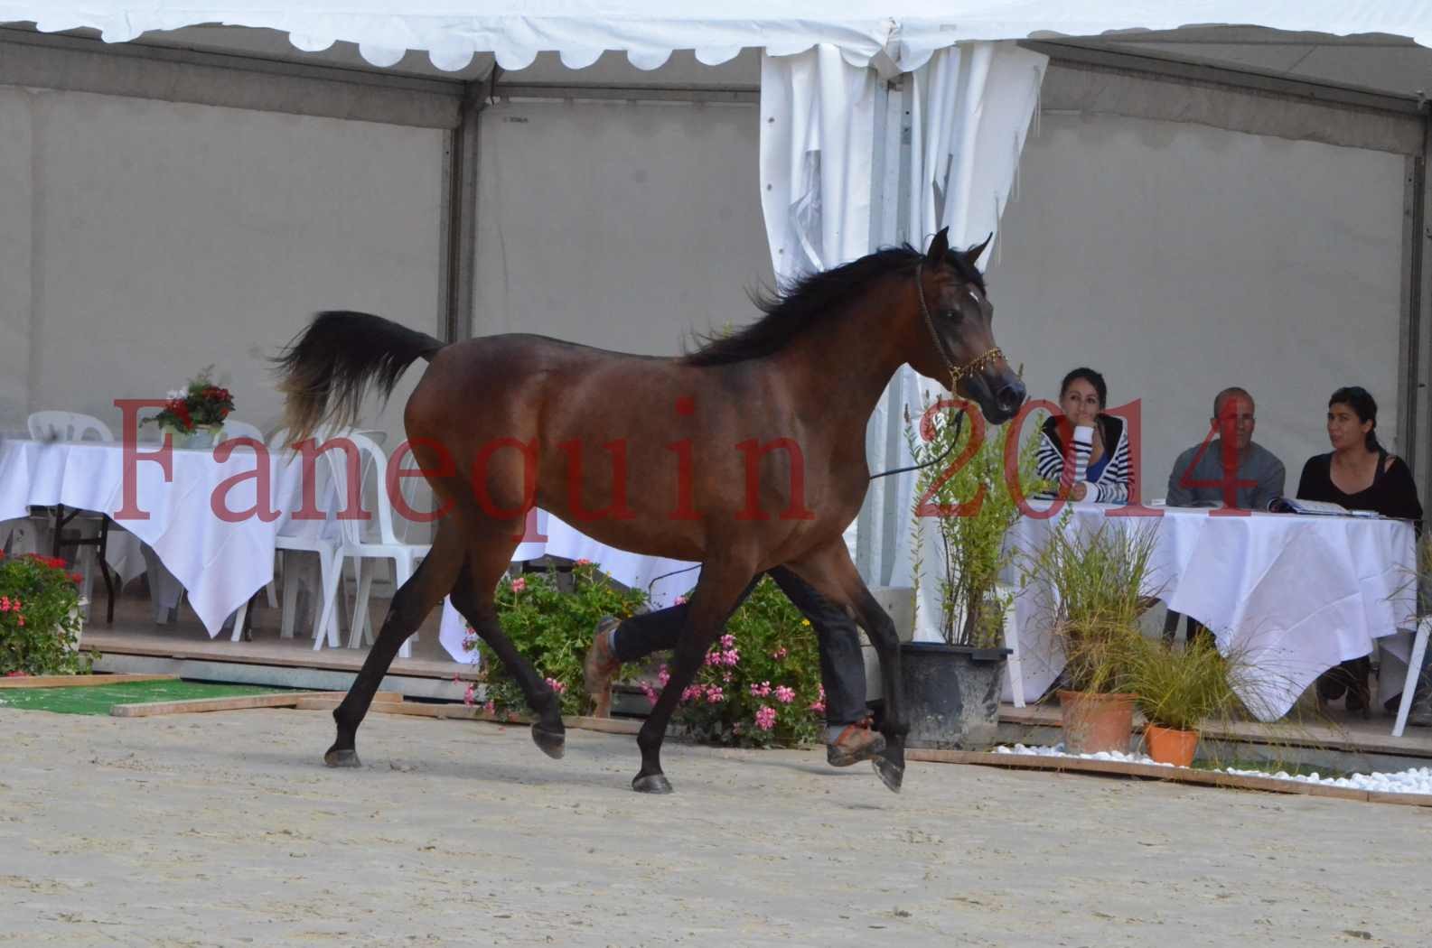
[{"label": "horse's straight front leg slanting back, hoof on the sand", "polygon": [[682,692],[696,680],[706,650],[720,636],[726,620],[753,586],[753,569],[729,563],[702,566],[702,579],[687,603],[686,627],[676,643],[676,654],[669,667],[670,677],[636,737],[642,749],[642,769],[632,780],[632,789],[639,793],[672,792],[672,783],[662,772],[662,740],[666,737],[666,727],[676,712],[676,705],[682,700]]}]

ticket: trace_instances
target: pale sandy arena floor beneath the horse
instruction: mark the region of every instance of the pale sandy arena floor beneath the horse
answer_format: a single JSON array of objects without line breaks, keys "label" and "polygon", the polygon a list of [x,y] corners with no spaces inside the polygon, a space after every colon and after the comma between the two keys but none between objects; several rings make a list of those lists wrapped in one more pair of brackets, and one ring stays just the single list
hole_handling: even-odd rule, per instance
[{"label": "pale sandy arena floor beneath the horse", "polygon": [[1432,812],[322,712],[0,709],[0,945],[1428,945]]}]

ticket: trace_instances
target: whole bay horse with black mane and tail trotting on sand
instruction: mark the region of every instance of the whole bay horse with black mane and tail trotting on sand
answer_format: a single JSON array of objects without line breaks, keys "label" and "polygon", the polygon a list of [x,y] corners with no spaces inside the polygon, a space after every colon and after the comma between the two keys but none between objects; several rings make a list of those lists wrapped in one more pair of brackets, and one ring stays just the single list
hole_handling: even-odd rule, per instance
[{"label": "whole bay horse with black mane and tail trotting on sand", "polygon": [[387,398],[430,362],[404,428],[444,516],[431,553],[392,597],[362,670],[334,710],[329,766],[359,766],[355,735],[398,647],[444,594],[517,679],[531,736],[560,758],[557,695],[503,633],[493,604],[541,507],[594,540],[700,561],[670,680],[637,736],[633,789],[667,793],[660,749],[677,700],[753,580],[785,567],[865,629],[881,664],[886,739],[876,770],[904,775],[899,642],[843,540],[869,485],[865,431],[889,379],[909,364],[1001,424],[1022,382],[995,347],[975,266],[988,243],[886,248],[758,295],[762,316],[652,358],[528,334],[442,344],[388,319],[322,312],[275,357],[291,444],[357,420],[371,384]]}]

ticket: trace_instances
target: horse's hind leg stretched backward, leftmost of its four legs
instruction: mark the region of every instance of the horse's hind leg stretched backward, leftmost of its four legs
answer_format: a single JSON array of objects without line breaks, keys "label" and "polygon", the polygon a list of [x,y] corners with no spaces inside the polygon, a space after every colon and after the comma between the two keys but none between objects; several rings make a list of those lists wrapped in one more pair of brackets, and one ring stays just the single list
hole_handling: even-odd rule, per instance
[{"label": "horse's hind leg stretched backward, leftmost of its four legs", "polygon": [[349,686],[348,695],[334,709],[338,736],[334,739],[334,746],[324,755],[324,763],[331,768],[358,766],[358,750],[354,746],[354,739],[358,735],[358,725],[368,713],[368,706],[372,705],[372,696],[378,693],[378,685],[388,673],[388,667],[402,643],[418,630],[432,607],[453,589],[461,567],[463,530],[455,520],[445,518],[438,524],[428,556],[422,557],[412,577],[392,594],[392,604],[388,607],[388,616],[382,620],[378,640],[368,650],[362,670]]}]

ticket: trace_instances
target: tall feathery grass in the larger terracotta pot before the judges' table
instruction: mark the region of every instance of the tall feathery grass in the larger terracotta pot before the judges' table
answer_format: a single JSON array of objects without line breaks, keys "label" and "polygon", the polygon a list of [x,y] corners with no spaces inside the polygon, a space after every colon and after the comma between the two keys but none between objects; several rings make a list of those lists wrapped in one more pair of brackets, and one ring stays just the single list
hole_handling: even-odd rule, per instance
[{"label": "tall feathery grass in the larger terracotta pot before the judges' table", "polygon": [[1054,633],[1065,666],[1058,690],[1064,746],[1070,753],[1128,752],[1134,680],[1143,636],[1138,616],[1156,534],[1148,524],[1104,518],[1078,534],[1065,510],[1030,573],[1053,594]]}]

